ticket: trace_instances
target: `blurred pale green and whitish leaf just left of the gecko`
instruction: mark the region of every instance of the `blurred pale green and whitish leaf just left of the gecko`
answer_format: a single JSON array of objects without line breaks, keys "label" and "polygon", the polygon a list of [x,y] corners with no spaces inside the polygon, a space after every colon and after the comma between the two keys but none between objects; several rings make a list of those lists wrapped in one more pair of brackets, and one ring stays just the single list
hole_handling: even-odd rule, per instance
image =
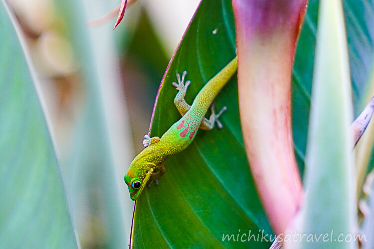
[{"label": "blurred pale green and whitish leaf just left of the gecko", "polygon": [[[57,2],[56,2],[57,3]],[[63,158],[68,196],[84,248],[125,248],[133,204],[123,188],[132,157],[125,98],[112,23],[88,28],[117,1],[59,1],[59,13],[85,82],[70,153]],[[106,10],[105,10],[106,9]],[[134,9],[133,9],[134,10]],[[126,32],[132,37],[132,30]]]}]

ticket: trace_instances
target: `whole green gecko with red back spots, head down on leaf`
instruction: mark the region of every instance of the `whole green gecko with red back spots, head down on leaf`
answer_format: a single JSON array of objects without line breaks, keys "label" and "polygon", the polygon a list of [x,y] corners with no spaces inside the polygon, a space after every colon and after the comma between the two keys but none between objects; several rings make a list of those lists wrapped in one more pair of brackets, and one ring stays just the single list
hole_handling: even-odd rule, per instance
[{"label": "whole green gecko with red back spots, head down on leaf", "polygon": [[[135,201],[139,197],[148,181],[150,181],[148,186],[154,180],[158,185],[157,179],[165,173],[164,162],[166,159],[186,149],[195,137],[198,128],[210,130],[215,123],[218,128],[222,128],[218,118],[226,110],[226,107],[215,114],[212,102],[236,70],[237,57],[205,84],[194,99],[192,106],[189,106],[184,99],[190,84],[190,81],[185,83],[187,72],[182,73],[182,79],[177,74],[178,84],[173,82],[173,86],[179,92],[174,99],[174,104],[182,118],[173,124],[161,138],[144,136],[146,139],[143,144],[146,148],[135,157],[125,175],[125,182],[129,187],[132,200]],[[209,119],[206,119],[204,116],[209,107],[212,113]]]}]

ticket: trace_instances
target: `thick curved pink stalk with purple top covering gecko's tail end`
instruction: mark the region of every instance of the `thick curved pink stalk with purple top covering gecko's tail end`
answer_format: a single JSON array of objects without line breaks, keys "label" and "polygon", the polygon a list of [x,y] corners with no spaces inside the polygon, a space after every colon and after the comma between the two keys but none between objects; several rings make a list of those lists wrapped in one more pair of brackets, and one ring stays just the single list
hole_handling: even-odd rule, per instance
[{"label": "thick curved pink stalk with purple top covering gecko's tail end", "polygon": [[302,183],[293,150],[291,77],[307,0],[233,0],[240,118],[251,171],[274,231],[299,208]]}]

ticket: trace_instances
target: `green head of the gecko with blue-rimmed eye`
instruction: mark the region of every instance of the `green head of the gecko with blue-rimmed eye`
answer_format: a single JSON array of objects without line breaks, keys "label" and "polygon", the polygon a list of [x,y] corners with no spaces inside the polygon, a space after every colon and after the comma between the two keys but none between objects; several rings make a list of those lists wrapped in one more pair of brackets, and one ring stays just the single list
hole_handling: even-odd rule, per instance
[{"label": "green head of the gecko with blue-rimmed eye", "polygon": [[144,171],[142,174],[134,173],[132,169],[129,169],[125,175],[125,183],[129,188],[130,198],[135,201],[138,199],[140,193],[142,193],[144,187],[147,185],[149,178],[152,175],[151,171]]}]

